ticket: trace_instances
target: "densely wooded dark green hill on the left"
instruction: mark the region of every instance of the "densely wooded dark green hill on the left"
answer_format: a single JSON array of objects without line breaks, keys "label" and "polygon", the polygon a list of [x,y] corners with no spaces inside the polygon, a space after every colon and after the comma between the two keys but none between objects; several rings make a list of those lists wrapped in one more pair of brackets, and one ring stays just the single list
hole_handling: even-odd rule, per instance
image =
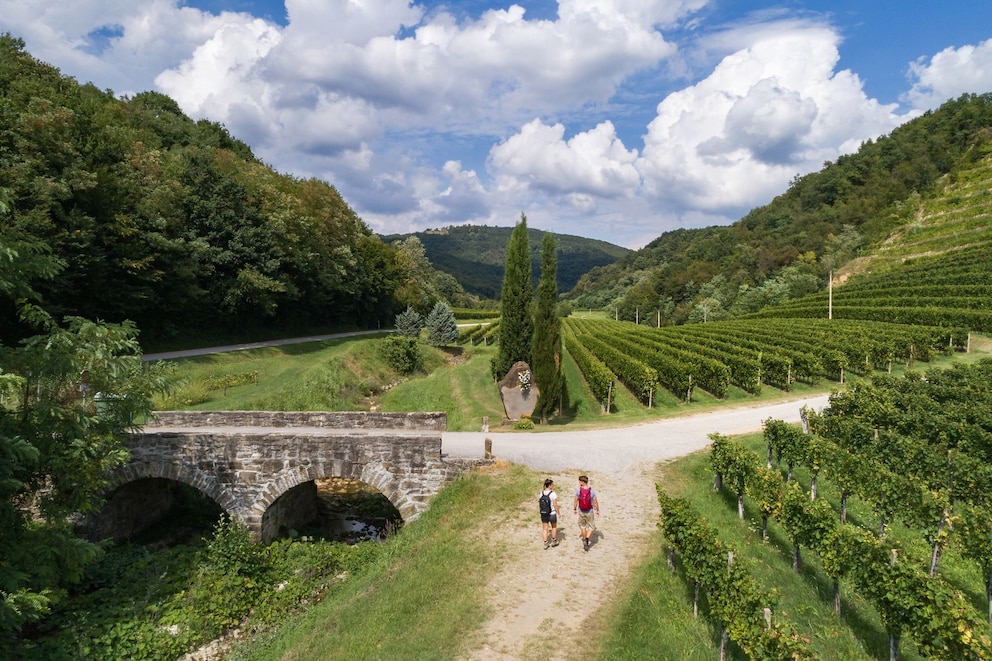
[{"label": "densely wooded dark green hill on the left", "polygon": [[374,327],[433,304],[411,268],[326,183],[273,171],[167,96],[118,99],[0,35],[0,285],[18,283],[0,286],[0,344],[29,332],[18,299],[131,320],[143,343]]}]

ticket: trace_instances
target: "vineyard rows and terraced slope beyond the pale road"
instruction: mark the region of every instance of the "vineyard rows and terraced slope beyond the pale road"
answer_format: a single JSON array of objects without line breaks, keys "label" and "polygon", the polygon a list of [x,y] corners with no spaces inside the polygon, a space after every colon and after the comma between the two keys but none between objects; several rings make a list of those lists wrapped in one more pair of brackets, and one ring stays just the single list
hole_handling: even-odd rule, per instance
[{"label": "vineyard rows and terraced slope beyond the pale road", "polygon": [[974,333],[992,333],[990,183],[992,156],[962,159],[926,197],[894,205],[898,223],[832,288],[736,318],[704,308],[705,323],[666,326],[650,308],[640,325],[570,318],[565,347],[604,407],[614,383],[648,407],[688,404],[700,391],[757,396],[969,351]]}]

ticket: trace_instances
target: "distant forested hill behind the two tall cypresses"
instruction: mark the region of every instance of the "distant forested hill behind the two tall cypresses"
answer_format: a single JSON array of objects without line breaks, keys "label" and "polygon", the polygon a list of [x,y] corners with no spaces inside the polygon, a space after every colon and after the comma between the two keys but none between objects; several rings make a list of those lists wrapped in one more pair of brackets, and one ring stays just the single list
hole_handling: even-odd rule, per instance
[{"label": "distant forested hill behind the two tall cypresses", "polygon": [[[435,268],[449,273],[470,294],[499,298],[503,284],[503,263],[512,227],[467,225],[445,227],[413,234],[384,236],[387,242],[416,237]],[[540,248],[544,232],[527,230],[534,282],[540,275]],[[631,253],[628,248],[570,234],[556,234],[558,247],[558,291],[566,292],[589,270],[612,264]]]}]

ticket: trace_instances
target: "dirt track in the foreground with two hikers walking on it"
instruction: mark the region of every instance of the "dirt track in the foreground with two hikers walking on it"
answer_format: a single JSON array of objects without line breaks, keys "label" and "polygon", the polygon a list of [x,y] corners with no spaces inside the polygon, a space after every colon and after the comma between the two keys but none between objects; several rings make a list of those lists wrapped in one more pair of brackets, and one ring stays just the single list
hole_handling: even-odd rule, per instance
[{"label": "dirt track in the foreground with two hikers walking on it", "polygon": [[[598,609],[606,606],[626,578],[651,551],[660,509],[654,462],[633,466],[623,476],[592,473],[602,516],[588,551],[583,550],[572,502],[579,471],[550,475],[561,506],[561,543],[545,550],[535,482],[534,497],[521,503],[511,520],[494,536],[510,548],[500,573],[487,587],[494,604],[481,644],[472,661],[541,661],[575,659],[586,627],[596,628]],[[533,502],[531,502],[533,501]]]}]

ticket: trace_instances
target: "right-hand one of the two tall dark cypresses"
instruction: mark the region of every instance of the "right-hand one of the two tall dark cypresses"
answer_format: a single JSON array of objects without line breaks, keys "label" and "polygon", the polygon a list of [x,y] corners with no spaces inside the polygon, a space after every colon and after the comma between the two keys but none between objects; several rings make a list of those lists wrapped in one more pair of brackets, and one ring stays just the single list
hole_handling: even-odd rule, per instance
[{"label": "right-hand one of the two tall dark cypresses", "polygon": [[541,278],[534,306],[531,372],[540,392],[534,414],[546,423],[558,408],[562,392],[561,321],[558,316],[558,255],[553,234],[541,241]]}]

